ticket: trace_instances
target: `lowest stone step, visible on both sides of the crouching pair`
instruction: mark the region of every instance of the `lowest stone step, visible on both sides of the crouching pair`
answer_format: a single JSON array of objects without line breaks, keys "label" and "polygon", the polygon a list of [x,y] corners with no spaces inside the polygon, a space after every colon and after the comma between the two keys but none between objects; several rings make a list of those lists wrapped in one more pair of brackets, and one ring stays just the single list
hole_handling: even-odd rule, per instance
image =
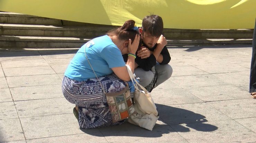
[{"label": "lowest stone step, visible on both sides of the crouching pair", "polygon": [[[92,38],[0,36],[1,48],[79,48]],[[252,44],[252,39],[167,39],[167,46],[204,44]]]}]

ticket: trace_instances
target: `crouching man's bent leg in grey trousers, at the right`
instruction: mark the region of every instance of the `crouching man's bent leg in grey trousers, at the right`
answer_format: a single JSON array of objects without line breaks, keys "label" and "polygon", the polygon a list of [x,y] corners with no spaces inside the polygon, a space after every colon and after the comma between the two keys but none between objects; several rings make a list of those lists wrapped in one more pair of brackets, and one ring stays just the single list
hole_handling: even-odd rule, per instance
[{"label": "crouching man's bent leg in grey trousers, at the right", "polygon": [[160,65],[159,63],[157,63],[155,65],[155,69],[157,71],[156,86],[162,84],[164,81],[166,81],[172,76],[173,69],[169,64]]}]

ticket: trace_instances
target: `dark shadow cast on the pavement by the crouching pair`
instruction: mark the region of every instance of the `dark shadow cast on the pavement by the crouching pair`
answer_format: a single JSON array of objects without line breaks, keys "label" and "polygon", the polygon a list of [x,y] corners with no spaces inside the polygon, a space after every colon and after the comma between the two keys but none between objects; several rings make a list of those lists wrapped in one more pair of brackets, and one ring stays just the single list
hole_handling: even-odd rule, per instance
[{"label": "dark shadow cast on the pavement by the crouching pair", "polygon": [[[190,132],[189,128],[197,131],[210,132],[218,129],[217,126],[207,124],[205,116],[194,113],[189,110],[156,104],[160,114],[159,121],[161,124],[156,124],[153,131],[140,128],[139,126],[128,122],[117,126],[108,126],[96,129],[82,129],[86,134],[93,136],[136,136],[136,137],[161,137],[163,134],[171,132]],[[181,125],[183,124],[183,125]],[[184,127],[186,124],[187,127]],[[99,134],[101,132],[101,134]]]}]

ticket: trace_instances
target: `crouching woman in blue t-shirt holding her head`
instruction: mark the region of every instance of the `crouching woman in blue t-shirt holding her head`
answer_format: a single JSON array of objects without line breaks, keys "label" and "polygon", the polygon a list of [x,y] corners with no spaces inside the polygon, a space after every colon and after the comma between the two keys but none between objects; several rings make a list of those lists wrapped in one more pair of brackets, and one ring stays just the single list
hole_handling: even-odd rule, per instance
[{"label": "crouching woman in blue t-shirt holding her head", "polygon": [[[81,128],[120,124],[119,122],[112,123],[107,117],[109,110],[103,110],[104,107],[107,109],[108,105],[98,79],[102,83],[111,83],[115,77],[130,81],[126,64],[134,72],[135,53],[140,40],[138,28],[134,25],[134,20],[128,20],[120,28],[109,31],[107,35],[87,42],[77,51],[68,65],[64,73],[62,91],[69,102],[76,104],[73,112]],[[125,63],[122,54],[127,53],[128,60]],[[124,86],[117,85],[108,89],[122,87]],[[90,110],[94,111],[90,112]],[[77,112],[83,117],[77,117]]]}]

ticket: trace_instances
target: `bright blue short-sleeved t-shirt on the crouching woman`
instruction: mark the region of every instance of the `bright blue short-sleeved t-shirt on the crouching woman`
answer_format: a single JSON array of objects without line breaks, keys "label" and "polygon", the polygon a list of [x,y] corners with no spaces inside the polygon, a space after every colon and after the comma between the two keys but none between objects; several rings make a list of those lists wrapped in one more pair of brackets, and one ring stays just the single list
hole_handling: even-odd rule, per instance
[{"label": "bright blue short-sleeved t-shirt on the crouching woman", "polygon": [[113,67],[125,66],[121,51],[108,35],[104,35],[87,42],[77,51],[64,73],[65,76],[77,81],[96,77],[85,56],[84,48],[97,77],[112,74]]}]

